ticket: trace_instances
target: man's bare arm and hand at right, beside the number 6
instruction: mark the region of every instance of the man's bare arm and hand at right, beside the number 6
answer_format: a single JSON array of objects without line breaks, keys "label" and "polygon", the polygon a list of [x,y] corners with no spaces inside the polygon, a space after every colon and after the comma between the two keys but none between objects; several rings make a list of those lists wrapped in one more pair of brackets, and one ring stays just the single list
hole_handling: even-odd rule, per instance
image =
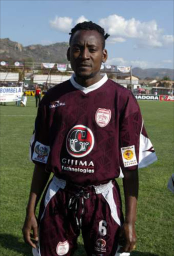
[{"label": "man's bare arm and hand at right, beside the number 6", "polygon": [[136,242],[135,221],[138,196],[138,171],[124,171],[123,188],[125,197],[125,221],[121,226],[119,243],[122,251],[131,251]]}]

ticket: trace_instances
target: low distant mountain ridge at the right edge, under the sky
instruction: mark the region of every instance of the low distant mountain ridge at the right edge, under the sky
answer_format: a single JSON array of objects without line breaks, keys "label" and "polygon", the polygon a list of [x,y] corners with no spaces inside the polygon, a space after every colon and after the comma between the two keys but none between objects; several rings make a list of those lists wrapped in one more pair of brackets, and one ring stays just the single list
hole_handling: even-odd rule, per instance
[{"label": "low distant mountain ridge at the right edge, under the sky", "polygon": [[138,76],[141,79],[146,77],[149,78],[156,78],[158,79],[163,78],[163,76],[169,76],[170,79],[174,79],[174,70],[170,68],[146,68],[142,69],[140,67],[132,68],[132,74]]}]

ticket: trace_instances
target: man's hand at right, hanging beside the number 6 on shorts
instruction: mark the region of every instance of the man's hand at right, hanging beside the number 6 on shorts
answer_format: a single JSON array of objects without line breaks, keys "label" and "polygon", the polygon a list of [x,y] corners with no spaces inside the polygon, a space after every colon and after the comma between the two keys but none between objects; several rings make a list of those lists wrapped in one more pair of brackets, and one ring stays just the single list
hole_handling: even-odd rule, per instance
[{"label": "man's hand at right, hanging beside the number 6 on shorts", "polygon": [[136,233],[135,227],[132,223],[124,223],[121,226],[118,244],[122,247],[120,248],[119,252],[130,252],[135,248],[136,243]]}]

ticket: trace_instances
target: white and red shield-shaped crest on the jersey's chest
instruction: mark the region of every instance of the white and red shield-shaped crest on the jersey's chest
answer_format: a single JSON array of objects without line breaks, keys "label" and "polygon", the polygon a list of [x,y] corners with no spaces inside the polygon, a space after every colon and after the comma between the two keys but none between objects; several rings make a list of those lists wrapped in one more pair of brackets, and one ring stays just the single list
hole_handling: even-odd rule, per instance
[{"label": "white and red shield-shaped crest on the jersey's chest", "polygon": [[100,127],[105,127],[111,118],[110,109],[98,108],[95,113],[95,121]]}]

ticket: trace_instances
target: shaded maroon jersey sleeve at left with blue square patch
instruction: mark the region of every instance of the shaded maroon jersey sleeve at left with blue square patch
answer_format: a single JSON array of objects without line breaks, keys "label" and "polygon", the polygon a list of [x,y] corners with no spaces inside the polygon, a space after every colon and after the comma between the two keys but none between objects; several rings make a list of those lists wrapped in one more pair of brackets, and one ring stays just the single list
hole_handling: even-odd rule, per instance
[{"label": "shaded maroon jersey sleeve at left with blue square patch", "polygon": [[39,104],[29,147],[29,158],[36,164],[46,164],[49,156],[50,146],[46,117],[46,106]]}]

